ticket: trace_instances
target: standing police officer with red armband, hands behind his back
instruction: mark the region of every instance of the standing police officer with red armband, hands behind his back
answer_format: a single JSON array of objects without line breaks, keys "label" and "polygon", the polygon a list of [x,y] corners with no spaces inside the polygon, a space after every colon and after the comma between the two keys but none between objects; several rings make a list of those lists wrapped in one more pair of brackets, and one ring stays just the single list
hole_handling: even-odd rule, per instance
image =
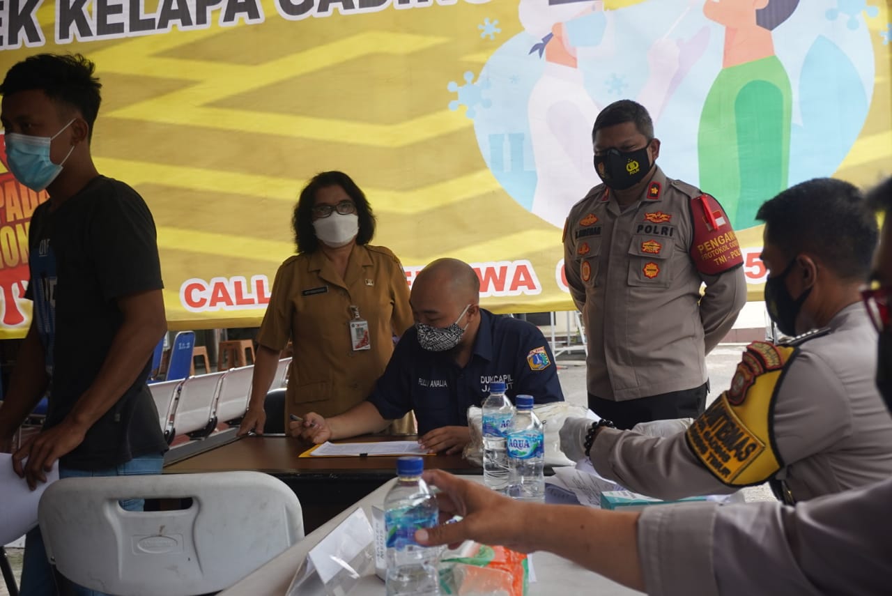
[{"label": "standing police officer with red armband, hands behind his back", "polygon": [[657,167],[660,142],[639,103],[608,105],[592,139],[604,184],[564,228],[566,280],[588,338],[589,407],[619,428],[696,417],[706,353],[746,302],[737,237],[712,196]]}]

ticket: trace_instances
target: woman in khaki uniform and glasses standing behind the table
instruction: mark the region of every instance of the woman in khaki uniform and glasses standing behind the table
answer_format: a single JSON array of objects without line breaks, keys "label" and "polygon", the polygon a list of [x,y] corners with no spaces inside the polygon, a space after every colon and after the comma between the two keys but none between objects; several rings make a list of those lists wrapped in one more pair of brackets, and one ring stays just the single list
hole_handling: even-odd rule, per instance
[{"label": "woman in khaki uniform and glasses standing behind the table", "polygon": [[[368,397],[390,360],[393,335],[413,323],[406,274],[389,249],[368,245],[375,216],[349,176],[327,171],[312,178],[294,208],[293,228],[298,254],[273,282],[239,435],[263,432],[263,402],[289,339],[285,420],[309,411],[336,416]],[[411,413],[390,430],[414,433]]]}]

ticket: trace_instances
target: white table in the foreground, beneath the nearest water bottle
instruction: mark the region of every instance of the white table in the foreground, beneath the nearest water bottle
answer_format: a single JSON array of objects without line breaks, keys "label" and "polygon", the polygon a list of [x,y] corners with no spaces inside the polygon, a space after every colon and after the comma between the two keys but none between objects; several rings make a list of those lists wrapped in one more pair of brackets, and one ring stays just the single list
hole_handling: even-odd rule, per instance
[{"label": "white table in the foreground, beneath the nearest water bottle", "polygon": [[[469,479],[483,482],[481,476],[469,477]],[[368,518],[371,519],[371,507],[373,505],[380,506],[384,502],[384,495],[390,490],[394,482],[396,482],[395,478],[378,488],[375,492],[369,493],[356,506],[345,509],[337,517],[326,522],[325,525],[319,526],[315,532],[308,534],[301,542],[285,550],[276,559],[272,559],[228,590],[220,592],[220,596],[256,596],[257,594],[284,596],[288,586],[291,584],[294,572],[307,558],[307,553],[310,549],[316,546],[345,517],[355,511],[357,506],[364,509]],[[536,552],[532,555],[532,558],[537,581],[530,584],[530,596],[582,593],[599,594],[599,596],[626,596],[641,593],[616,584],[606,577],[548,552]],[[350,594],[351,596],[354,594],[357,596],[364,594],[379,596],[384,594],[384,582],[376,575],[363,577],[360,584]]]}]

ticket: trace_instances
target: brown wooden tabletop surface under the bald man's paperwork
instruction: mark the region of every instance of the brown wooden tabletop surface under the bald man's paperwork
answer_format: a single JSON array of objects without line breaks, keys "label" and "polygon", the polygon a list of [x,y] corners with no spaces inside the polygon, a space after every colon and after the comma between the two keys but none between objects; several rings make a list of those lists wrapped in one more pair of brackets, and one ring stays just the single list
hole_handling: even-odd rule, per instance
[{"label": "brown wooden tabletop surface under the bald man's paperwork", "polygon": [[[415,436],[366,435],[347,441],[333,443],[376,443],[380,441],[414,441]],[[301,458],[302,452],[312,447],[285,435],[244,436],[231,443],[202,451],[170,464],[165,473],[187,474],[195,472],[227,472],[233,470],[256,470],[274,476],[318,476],[318,475],[394,475],[395,456],[373,457],[317,457]],[[461,455],[425,456],[425,468],[438,468],[461,474],[480,474],[481,468],[462,459]]]}]

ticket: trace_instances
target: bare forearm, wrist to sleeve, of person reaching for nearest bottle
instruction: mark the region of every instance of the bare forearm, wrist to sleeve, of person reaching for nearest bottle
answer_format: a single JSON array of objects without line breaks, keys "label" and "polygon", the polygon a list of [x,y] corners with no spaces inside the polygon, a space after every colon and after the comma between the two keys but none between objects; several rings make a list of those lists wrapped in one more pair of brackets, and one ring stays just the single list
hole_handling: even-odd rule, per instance
[{"label": "bare forearm, wrist to sleeve, of person reaching for nearest bottle", "polygon": [[[548,550],[636,590],[644,589],[638,555],[638,513],[567,505],[535,506],[511,523],[541,537]],[[533,528],[527,525],[533,524]]]}]

